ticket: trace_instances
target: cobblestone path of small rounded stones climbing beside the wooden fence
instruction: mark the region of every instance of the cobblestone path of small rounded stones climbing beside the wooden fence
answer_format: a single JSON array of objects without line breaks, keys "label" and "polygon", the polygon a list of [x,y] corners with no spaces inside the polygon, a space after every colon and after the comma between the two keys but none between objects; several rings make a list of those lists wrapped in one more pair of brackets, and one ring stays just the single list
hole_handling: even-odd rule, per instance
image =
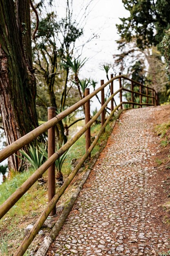
[{"label": "cobblestone path of small rounded stones climbing beside the wooden fence", "polygon": [[159,108],[122,115],[53,243],[53,255],[148,256],[169,249],[169,235],[152,215],[155,187],[148,184],[157,173],[159,145],[150,118]]}]

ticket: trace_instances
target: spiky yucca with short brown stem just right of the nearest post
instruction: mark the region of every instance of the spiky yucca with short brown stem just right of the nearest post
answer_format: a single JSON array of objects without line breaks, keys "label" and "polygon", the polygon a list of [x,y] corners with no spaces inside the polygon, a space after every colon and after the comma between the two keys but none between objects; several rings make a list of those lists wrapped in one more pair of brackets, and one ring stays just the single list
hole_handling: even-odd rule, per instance
[{"label": "spiky yucca with short brown stem just right of the nearest post", "polygon": [[[64,142],[62,143],[62,146],[64,145]],[[57,180],[57,184],[59,186],[62,186],[62,184],[64,183],[63,180],[63,175],[62,175],[62,166],[64,164],[64,161],[66,159],[66,157],[68,156],[68,153],[70,152],[72,147],[70,147],[61,157],[59,157],[56,161],[55,161],[55,168],[56,168],[56,180]],[[56,150],[58,151],[60,149],[59,143],[57,142],[57,146],[56,146]],[[46,146],[40,145],[39,146],[39,151],[44,155],[44,157],[46,159],[48,159],[48,153],[46,150]]]}]

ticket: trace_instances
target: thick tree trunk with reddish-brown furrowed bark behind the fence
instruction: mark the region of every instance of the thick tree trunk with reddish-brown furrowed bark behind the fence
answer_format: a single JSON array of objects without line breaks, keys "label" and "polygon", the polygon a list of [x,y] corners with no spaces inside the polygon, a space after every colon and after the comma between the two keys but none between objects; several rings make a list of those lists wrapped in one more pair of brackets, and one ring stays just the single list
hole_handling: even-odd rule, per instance
[{"label": "thick tree trunk with reddish-brown furrowed bark behind the fence", "polygon": [[[0,111],[9,145],[38,126],[29,0],[16,0],[15,7],[13,0],[0,0],[0,13]],[[21,171],[15,155],[8,164]]]}]

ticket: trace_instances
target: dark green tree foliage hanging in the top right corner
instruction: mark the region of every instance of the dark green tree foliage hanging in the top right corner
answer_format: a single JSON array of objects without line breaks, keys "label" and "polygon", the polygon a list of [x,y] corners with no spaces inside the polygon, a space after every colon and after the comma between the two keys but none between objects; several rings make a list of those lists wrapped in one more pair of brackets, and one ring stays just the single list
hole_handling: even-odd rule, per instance
[{"label": "dark green tree foliage hanging in the top right corner", "polygon": [[170,27],[169,1],[167,0],[122,0],[126,10],[130,11],[128,18],[121,18],[117,24],[121,38],[127,42],[134,36],[137,47],[158,45]]}]

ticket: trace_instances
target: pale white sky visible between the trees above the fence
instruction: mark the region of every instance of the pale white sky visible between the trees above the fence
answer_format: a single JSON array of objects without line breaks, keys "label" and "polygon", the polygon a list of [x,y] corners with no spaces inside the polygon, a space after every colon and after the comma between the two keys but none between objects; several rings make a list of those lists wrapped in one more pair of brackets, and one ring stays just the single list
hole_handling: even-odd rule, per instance
[{"label": "pale white sky visible between the trees above the fence", "polygon": [[[73,17],[75,20],[81,20],[84,9],[90,0],[73,0]],[[83,7],[84,6],[84,9]],[[57,13],[61,16],[65,13],[65,1],[56,0]],[[81,11],[81,9],[83,9]],[[88,14],[89,13],[89,14]],[[89,37],[94,33],[96,38],[87,43],[83,50],[81,59],[88,58],[79,77],[81,79],[91,78],[99,81],[97,87],[100,85],[100,80],[106,81],[106,73],[101,70],[101,65],[105,63],[113,64],[113,54],[117,52],[116,40],[119,39],[117,34],[116,24],[120,22],[119,18],[128,17],[128,11],[124,8],[121,0],[92,0],[90,6],[86,12],[86,24],[84,25],[84,36],[77,40],[75,48],[78,49],[80,54],[82,45]],[[113,72],[110,69],[110,74]],[[117,74],[118,74],[117,70]],[[109,74],[109,77],[110,77]],[[114,91],[118,90],[118,81],[114,83]],[[93,88],[90,87],[92,92]],[[119,98],[116,97],[116,102],[119,102]],[[97,106],[99,109],[99,103],[95,101],[92,104],[92,109]]]}]

